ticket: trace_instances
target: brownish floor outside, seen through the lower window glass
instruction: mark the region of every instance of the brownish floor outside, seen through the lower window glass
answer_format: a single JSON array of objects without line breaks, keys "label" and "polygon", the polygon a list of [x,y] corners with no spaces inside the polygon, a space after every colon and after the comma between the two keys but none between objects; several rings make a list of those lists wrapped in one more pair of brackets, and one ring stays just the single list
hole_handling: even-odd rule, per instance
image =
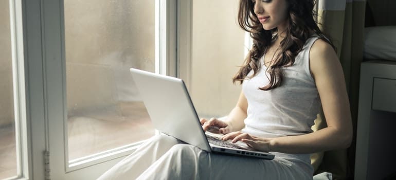
[{"label": "brownish floor outside, seen through the lower window glass", "polygon": [[[147,139],[154,128],[143,103],[120,103],[121,114],[68,118],[69,160]],[[16,174],[13,125],[0,129],[0,179]]]}]

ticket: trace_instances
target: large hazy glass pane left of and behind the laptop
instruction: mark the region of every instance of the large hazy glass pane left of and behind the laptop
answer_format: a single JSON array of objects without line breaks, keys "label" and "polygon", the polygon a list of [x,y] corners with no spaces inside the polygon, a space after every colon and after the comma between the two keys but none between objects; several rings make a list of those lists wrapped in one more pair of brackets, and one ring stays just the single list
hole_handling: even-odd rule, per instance
[{"label": "large hazy glass pane left of and behind the laptop", "polygon": [[69,160],[154,135],[129,68],[155,69],[154,0],[65,0]]}]

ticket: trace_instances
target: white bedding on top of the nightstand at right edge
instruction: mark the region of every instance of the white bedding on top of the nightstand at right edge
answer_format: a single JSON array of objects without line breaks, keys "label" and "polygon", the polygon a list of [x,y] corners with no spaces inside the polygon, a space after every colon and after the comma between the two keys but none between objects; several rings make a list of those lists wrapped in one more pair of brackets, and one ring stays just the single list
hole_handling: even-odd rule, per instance
[{"label": "white bedding on top of the nightstand at right edge", "polygon": [[396,61],[396,26],[366,27],[363,56]]}]

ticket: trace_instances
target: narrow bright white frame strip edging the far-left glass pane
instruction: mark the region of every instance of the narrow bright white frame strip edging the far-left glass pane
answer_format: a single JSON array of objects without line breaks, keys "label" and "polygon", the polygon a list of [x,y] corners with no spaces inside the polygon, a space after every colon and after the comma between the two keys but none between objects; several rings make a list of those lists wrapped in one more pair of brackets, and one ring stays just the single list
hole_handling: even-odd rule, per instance
[{"label": "narrow bright white frame strip edging the far-left glass pane", "polygon": [[16,174],[7,179],[29,177],[28,123],[26,121],[25,63],[23,45],[22,6],[20,1],[9,1],[12,86],[15,121]]}]

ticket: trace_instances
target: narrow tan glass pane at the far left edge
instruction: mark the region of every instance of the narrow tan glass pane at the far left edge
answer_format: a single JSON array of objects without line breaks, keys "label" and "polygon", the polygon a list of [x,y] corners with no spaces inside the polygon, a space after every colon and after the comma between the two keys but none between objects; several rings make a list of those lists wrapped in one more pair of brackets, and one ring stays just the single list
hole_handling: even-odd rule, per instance
[{"label": "narrow tan glass pane at the far left edge", "polygon": [[0,179],[16,176],[9,2],[0,1]]}]

